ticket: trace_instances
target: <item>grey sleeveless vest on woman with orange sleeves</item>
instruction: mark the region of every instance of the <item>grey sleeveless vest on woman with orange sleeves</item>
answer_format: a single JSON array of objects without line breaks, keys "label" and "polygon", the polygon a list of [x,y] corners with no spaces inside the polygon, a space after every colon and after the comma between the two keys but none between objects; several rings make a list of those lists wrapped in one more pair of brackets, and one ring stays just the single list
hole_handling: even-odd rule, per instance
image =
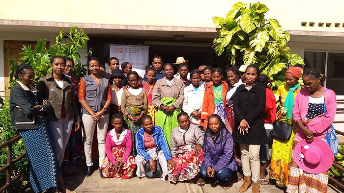
[{"label": "grey sleeveless vest on woman with orange sleeves", "polygon": [[[83,77],[83,80],[85,82],[85,100],[92,111],[97,113],[103,109],[107,101],[109,80],[99,78],[100,86],[98,86],[91,75]],[[81,110],[81,113],[89,115],[84,108]],[[109,110],[107,109],[104,114],[109,114]]]}]

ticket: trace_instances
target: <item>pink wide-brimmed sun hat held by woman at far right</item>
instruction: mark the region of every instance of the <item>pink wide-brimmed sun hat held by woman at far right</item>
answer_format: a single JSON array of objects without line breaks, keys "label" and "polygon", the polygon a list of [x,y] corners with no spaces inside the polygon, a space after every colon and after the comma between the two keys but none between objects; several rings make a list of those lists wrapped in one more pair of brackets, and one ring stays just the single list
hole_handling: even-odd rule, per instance
[{"label": "pink wide-brimmed sun hat held by woman at far right", "polygon": [[297,166],[308,173],[322,173],[332,166],[333,152],[325,141],[314,139],[308,144],[301,140],[294,148]]}]

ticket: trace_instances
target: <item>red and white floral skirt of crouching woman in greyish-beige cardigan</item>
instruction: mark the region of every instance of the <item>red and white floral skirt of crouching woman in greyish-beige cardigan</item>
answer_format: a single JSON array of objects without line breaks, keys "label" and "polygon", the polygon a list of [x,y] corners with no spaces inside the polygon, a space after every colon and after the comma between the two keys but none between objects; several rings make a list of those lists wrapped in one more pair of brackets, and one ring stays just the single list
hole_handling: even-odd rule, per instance
[{"label": "red and white floral skirt of crouching woman in greyish-beige cardigan", "polygon": [[169,180],[172,182],[184,181],[194,178],[200,171],[203,163],[203,150],[195,154],[196,145],[183,145],[178,147],[176,156],[172,158],[176,163],[174,169],[169,170]]}]

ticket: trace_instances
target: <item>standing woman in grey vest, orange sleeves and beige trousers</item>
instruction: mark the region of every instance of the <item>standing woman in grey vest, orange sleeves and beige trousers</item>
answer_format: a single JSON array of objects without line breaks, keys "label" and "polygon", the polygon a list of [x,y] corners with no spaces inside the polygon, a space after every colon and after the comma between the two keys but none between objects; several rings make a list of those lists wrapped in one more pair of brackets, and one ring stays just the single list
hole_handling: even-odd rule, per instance
[{"label": "standing woman in grey vest, orange sleeves and beige trousers", "polygon": [[[109,106],[111,103],[111,86],[109,80],[101,78],[99,75],[99,59],[90,57],[88,62],[90,75],[80,79],[79,84],[79,102],[83,106],[83,122],[86,136],[84,148],[86,156],[86,176],[92,174],[92,143],[94,128],[97,128],[97,140],[99,151],[99,170],[103,177],[101,165],[105,159],[105,140],[109,123]],[[93,152],[95,153],[95,152]]]}]

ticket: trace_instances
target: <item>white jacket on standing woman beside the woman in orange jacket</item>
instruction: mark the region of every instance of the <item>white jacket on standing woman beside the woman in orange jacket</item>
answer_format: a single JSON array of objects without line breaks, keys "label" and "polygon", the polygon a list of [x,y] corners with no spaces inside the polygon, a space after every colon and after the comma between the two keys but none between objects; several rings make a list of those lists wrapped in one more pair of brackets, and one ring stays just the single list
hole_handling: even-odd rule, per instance
[{"label": "white jacket on standing woman beside the woman in orange jacket", "polygon": [[200,124],[201,120],[194,118],[191,113],[196,110],[202,111],[204,91],[204,84],[201,83],[197,91],[195,91],[192,84],[184,88],[184,102],[182,109],[189,115],[190,121],[195,124]]}]

